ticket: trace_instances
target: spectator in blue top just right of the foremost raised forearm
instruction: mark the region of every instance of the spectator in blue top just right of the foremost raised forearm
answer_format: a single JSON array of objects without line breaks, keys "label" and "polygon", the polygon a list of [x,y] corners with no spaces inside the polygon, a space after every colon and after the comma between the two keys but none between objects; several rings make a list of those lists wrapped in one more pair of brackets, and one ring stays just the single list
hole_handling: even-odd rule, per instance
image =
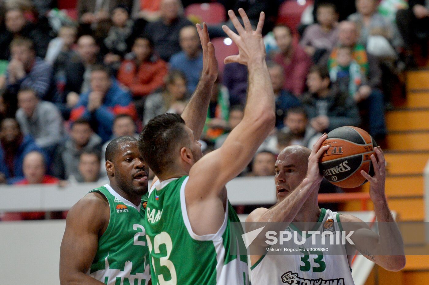
[{"label": "spectator in blue top just right of the foremost raised forearm", "polygon": [[275,127],[283,128],[283,118],[287,109],[301,105],[299,99],[283,89],[284,69],[275,62],[268,62],[268,71],[271,77],[275,96]]}]

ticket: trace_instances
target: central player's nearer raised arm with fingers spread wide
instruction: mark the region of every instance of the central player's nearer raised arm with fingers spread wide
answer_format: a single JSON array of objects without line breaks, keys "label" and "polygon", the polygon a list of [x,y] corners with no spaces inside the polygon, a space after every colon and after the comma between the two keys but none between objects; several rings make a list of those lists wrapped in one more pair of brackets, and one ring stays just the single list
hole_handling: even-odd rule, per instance
[{"label": "central player's nearer raised arm with fingers spread wide", "polygon": [[242,121],[231,131],[222,147],[202,157],[190,169],[186,189],[188,193],[198,193],[193,196],[195,199],[221,194],[225,184],[248,165],[275,125],[274,94],[261,34],[264,13],[261,12],[255,31],[243,9],[239,9],[239,13],[244,21],[244,28],[233,11],[228,13],[239,35],[226,26],[223,29],[239,47],[239,54],[228,56],[225,63],[239,62],[248,66],[248,99]]}]

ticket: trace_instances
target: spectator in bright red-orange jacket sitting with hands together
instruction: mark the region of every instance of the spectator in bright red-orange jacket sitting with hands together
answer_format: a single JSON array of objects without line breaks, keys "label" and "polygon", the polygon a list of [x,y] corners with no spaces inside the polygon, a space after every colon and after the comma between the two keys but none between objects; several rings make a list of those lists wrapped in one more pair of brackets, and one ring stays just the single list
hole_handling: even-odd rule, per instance
[{"label": "spectator in bright red-orange jacket sitting with hands together", "polygon": [[163,86],[167,73],[167,64],[153,53],[150,39],[136,38],[119,68],[118,80],[130,88],[139,114],[143,114],[144,97]]}]

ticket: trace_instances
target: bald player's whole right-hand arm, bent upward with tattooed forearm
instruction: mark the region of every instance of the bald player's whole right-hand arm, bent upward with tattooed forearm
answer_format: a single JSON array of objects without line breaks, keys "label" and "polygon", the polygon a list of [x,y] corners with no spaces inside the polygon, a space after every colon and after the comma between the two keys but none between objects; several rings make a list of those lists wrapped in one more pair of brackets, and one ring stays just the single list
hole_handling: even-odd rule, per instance
[{"label": "bald player's whole right-hand arm, bent upward with tattooed forearm", "polygon": [[350,239],[355,243],[353,247],[356,250],[387,270],[399,271],[405,266],[404,242],[384,194],[386,179],[384,154],[380,147],[374,148],[374,151],[377,155],[377,159],[374,154],[371,155],[374,176],[364,171],[361,171],[361,174],[371,184],[369,195],[374,203],[379,234],[370,230],[362,220],[352,215],[341,215],[340,220],[346,232],[355,231]]}]

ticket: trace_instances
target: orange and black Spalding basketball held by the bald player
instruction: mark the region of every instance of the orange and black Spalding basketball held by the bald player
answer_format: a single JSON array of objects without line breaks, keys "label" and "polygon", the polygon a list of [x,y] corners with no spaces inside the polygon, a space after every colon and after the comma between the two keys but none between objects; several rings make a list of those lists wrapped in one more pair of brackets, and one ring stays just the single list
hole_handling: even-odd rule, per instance
[{"label": "orange and black Spalding basketball held by the bald player", "polygon": [[342,188],[359,187],[366,182],[361,170],[374,175],[371,154],[375,155],[377,144],[363,129],[336,128],[328,133],[323,145],[330,148],[321,157],[319,168],[332,184]]}]

